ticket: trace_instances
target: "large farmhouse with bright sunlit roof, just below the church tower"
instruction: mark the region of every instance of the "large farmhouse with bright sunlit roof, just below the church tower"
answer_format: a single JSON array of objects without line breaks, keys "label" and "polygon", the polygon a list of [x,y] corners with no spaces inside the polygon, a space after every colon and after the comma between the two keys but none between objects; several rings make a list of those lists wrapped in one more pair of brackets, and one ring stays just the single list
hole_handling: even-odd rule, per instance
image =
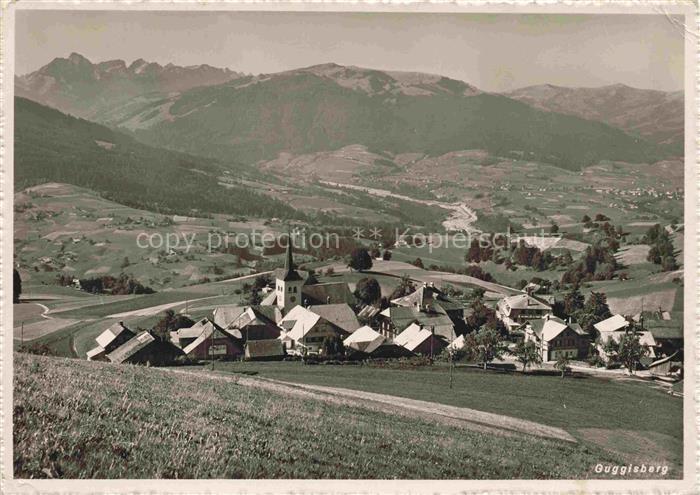
[{"label": "large farmhouse with bright sunlit roof, just below the church tower", "polygon": [[312,353],[321,351],[326,338],[344,339],[351,333],[303,306],[292,308],[282,318],[280,327],[284,331],[282,339],[290,344],[288,349],[297,351],[306,348]]}]

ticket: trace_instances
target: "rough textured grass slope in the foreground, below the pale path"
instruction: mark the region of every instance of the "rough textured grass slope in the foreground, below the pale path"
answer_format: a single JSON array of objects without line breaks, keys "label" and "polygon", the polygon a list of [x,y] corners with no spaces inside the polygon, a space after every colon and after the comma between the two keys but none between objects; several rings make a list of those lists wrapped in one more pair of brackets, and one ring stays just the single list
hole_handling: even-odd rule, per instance
[{"label": "rough textured grass slope in the foreground, below the pale path", "polygon": [[27,354],[14,366],[19,478],[590,478],[623,460],[167,370]]}]

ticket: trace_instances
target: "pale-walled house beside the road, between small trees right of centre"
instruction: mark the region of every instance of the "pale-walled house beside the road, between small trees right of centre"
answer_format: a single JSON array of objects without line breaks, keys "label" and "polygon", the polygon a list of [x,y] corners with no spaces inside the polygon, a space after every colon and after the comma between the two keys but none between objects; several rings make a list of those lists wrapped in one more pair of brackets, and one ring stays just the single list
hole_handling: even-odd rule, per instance
[{"label": "pale-walled house beside the road, between small trees right of centre", "polygon": [[578,323],[545,316],[525,324],[525,341],[534,342],[542,361],[556,361],[560,357],[584,359],[588,356],[590,340]]}]

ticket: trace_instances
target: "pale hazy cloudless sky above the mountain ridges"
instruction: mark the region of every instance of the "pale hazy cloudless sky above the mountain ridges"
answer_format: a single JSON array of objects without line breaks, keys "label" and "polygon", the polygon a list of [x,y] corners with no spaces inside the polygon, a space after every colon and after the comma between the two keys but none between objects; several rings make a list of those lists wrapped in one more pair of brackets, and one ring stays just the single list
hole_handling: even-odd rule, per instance
[{"label": "pale hazy cloudless sky above the mountain ridges", "polygon": [[17,74],[76,52],[273,73],[335,62],[440,74],[486,91],[536,84],[683,89],[684,39],[663,15],[28,11]]}]

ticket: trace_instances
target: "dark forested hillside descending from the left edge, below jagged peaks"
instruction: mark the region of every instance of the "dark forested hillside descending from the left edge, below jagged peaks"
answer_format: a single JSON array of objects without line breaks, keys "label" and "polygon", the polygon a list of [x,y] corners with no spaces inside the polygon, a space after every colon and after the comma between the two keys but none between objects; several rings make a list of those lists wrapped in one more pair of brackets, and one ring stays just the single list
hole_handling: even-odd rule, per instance
[{"label": "dark forested hillside descending from the left edge, below jagged peaks", "polygon": [[303,217],[246,187],[223,187],[219,177],[224,170],[234,170],[238,177],[252,173],[230,160],[154,148],[107,127],[15,99],[15,190],[63,182],[159,213]]}]

